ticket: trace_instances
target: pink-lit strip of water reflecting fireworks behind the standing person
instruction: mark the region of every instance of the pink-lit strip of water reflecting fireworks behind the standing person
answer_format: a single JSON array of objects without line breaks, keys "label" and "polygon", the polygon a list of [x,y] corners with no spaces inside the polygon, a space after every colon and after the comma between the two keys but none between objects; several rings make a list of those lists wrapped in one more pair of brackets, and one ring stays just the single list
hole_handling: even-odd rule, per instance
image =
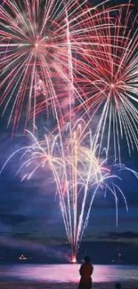
[{"label": "pink-lit strip of water reflecting fireworks behind the standing person", "polygon": [[[93,265],[93,282],[137,281],[138,266]],[[0,281],[26,280],[48,283],[76,283],[79,275],[78,264],[66,265],[4,265],[0,266]]]}]

